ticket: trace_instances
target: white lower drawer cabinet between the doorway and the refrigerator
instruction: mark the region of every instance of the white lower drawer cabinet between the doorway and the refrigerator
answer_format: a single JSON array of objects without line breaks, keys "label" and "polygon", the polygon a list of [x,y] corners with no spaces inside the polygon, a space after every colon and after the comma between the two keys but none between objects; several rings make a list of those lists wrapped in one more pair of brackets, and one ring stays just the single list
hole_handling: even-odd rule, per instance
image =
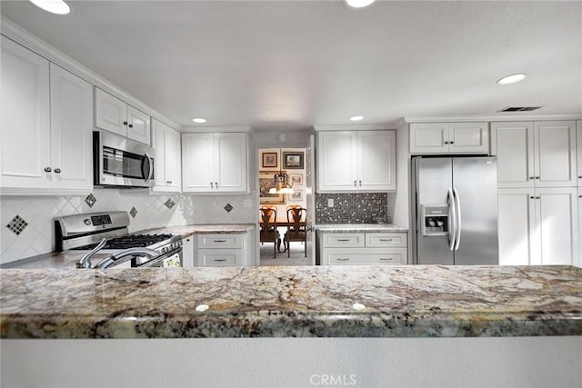
[{"label": "white lower drawer cabinet between the doorway and the refrigerator", "polygon": [[319,264],[373,265],[407,264],[407,237],[397,233],[319,234]]}]

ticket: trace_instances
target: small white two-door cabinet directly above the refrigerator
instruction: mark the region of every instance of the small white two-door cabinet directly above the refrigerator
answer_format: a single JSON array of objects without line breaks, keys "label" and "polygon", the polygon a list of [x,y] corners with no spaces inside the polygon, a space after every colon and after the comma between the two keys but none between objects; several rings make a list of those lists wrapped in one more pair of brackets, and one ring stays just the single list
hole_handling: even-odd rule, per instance
[{"label": "small white two-door cabinet directly above the refrigerator", "polygon": [[410,124],[410,154],[487,154],[487,123]]}]

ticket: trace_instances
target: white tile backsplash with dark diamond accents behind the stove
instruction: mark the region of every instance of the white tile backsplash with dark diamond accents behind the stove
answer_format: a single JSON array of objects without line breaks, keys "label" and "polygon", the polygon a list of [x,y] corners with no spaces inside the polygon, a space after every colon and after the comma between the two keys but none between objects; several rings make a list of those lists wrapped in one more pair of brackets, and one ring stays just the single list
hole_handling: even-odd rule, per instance
[{"label": "white tile backsplash with dark diamond accents behind the stove", "polygon": [[[131,232],[166,225],[254,224],[255,208],[243,205],[248,199],[252,200],[251,194],[149,195],[115,189],[95,189],[90,195],[3,195],[0,217],[5,227],[1,228],[0,263],[53,252],[53,219],[58,216],[122,210],[132,214]],[[232,207],[231,211],[226,212],[226,207]]]}]

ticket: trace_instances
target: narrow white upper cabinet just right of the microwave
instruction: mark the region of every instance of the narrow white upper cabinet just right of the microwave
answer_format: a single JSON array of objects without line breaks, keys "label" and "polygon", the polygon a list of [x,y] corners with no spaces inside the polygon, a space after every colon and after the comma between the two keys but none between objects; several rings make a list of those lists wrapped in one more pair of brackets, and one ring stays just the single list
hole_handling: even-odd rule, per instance
[{"label": "narrow white upper cabinet just right of the microwave", "polygon": [[180,133],[168,125],[152,120],[152,146],[156,149],[154,192],[182,190]]}]

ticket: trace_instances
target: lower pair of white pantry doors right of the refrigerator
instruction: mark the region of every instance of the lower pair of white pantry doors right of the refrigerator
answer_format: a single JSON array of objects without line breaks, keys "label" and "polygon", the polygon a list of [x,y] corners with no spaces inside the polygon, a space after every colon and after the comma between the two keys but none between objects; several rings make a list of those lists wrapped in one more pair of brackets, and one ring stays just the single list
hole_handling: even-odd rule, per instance
[{"label": "lower pair of white pantry doors right of the refrigerator", "polygon": [[580,265],[575,187],[498,190],[499,264]]}]

